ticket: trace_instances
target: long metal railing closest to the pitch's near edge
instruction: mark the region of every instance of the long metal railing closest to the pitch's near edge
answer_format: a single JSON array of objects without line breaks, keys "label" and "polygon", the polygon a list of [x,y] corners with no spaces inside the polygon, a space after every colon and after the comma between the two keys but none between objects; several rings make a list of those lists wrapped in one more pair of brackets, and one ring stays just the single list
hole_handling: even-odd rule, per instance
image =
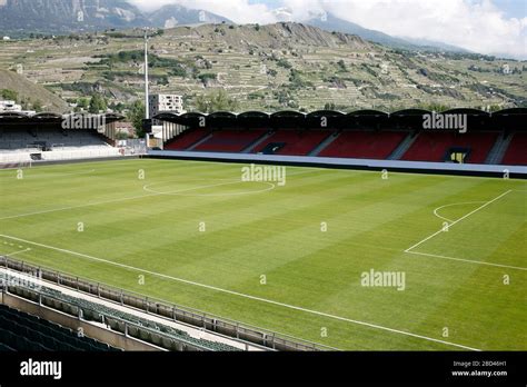
[{"label": "long metal railing closest to the pitch's near edge", "polygon": [[248,341],[258,346],[286,351],[328,351],[338,350],[318,343],[299,339],[289,335],[278,334],[271,330],[255,327],[248,324],[230,320],[203,312],[197,309],[178,306],[165,300],[159,300],[145,295],[123,289],[117,289],[102,282],[82,279],[59,270],[51,270],[10,257],[0,256],[0,267],[26,272],[38,274],[40,278],[49,282],[60,285],[80,292],[136,308],[155,316],[180,321],[193,327],[220,334],[238,340]]}]

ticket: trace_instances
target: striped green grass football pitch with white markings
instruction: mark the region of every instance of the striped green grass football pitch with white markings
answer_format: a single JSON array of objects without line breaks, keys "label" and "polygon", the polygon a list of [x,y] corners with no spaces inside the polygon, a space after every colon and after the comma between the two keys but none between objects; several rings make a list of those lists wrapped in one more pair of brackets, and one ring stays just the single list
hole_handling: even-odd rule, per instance
[{"label": "striped green grass football pitch with white markings", "polygon": [[338,349],[527,349],[525,181],[242,167],[0,171],[0,254]]}]

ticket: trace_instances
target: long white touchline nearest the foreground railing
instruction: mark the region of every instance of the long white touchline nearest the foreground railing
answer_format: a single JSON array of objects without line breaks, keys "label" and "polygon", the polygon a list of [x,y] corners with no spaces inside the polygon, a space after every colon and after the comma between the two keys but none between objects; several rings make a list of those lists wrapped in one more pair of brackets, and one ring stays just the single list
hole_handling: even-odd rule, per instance
[{"label": "long white touchline nearest the foreground railing", "polygon": [[102,258],[97,258],[97,257],[89,256],[89,255],[81,254],[81,252],[76,252],[76,251],[71,251],[71,250],[67,250],[67,249],[61,249],[61,248],[52,247],[52,246],[49,246],[49,245],[37,244],[37,242],[33,242],[33,241],[30,241],[30,240],[24,240],[24,239],[17,238],[17,237],[11,237],[11,236],[8,236],[8,235],[1,235],[0,234],[0,237],[8,238],[8,239],[11,239],[11,240],[17,240],[17,241],[20,241],[20,242],[26,242],[26,244],[33,245],[33,246],[43,247],[43,248],[56,250],[56,251],[70,254],[70,255],[73,255],[73,256],[96,260],[96,261],[99,261],[99,262],[105,262],[105,264],[108,264],[108,265],[121,267],[121,268],[133,270],[133,271],[149,274],[151,276],[166,278],[166,279],[179,281],[179,282],[187,284],[187,285],[193,285],[193,286],[197,286],[197,287],[201,287],[201,288],[206,288],[206,289],[210,289],[210,290],[215,290],[215,291],[219,291],[219,292],[225,292],[225,294],[232,295],[232,296],[248,298],[248,299],[251,299],[251,300],[266,302],[266,304],[270,304],[270,305],[276,305],[276,306],[280,306],[280,307],[284,307],[284,308],[288,308],[288,309],[299,310],[299,311],[308,312],[308,314],[311,314],[311,315],[328,317],[328,318],[332,318],[332,319],[341,320],[341,321],[346,321],[346,322],[352,322],[352,324],[356,324],[356,325],[361,325],[361,326],[366,326],[366,327],[370,327],[370,328],[376,328],[376,329],[386,330],[386,331],[390,331],[390,333],[395,333],[395,334],[410,336],[410,337],[415,337],[415,338],[419,338],[419,339],[424,339],[424,340],[428,340],[428,341],[439,343],[439,344],[444,344],[444,345],[451,346],[451,347],[458,347],[458,348],[463,348],[463,349],[477,350],[477,351],[480,350],[480,349],[467,347],[467,346],[464,346],[464,345],[460,345],[460,344],[449,343],[449,341],[436,339],[436,338],[432,338],[432,337],[411,334],[411,333],[408,333],[408,331],[405,331],[405,330],[388,328],[388,327],[384,327],[384,326],[380,326],[380,325],[365,322],[365,321],[360,321],[360,320],[354,320],[354,319],[349,319],[349,318],[345,318],[345,317],[340,317],[340,316],[336,316],[336,315],[326,314],[326,312],[322,312],[322,311],[305,309],[305,308],[294,306],[294,305],[278,302],[278,301],[274,301],[274,300],[261,298],[261,297],[245,295],[245,294],[238,292],[238,291],[227,290],[227,289],[218,288],[218,287],[210,286],[210,285],[205,285],[205,284],[190,281],[190,280],[187,280],[187,279],[171,277],[171,276],[167,276],[167,275],[163,275],[163,274],[140,269],[140,268],[137,268],[137,267],[133,267],[133,266],[119,264],[119,262],[115,262],[115,261],[102,259]]}]

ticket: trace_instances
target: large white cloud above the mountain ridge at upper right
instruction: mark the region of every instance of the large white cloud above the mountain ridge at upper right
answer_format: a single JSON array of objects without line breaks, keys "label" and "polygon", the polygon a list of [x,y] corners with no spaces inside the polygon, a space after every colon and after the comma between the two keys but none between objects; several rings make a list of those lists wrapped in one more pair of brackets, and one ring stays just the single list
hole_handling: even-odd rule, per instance
[{"label": "large white cloud above the mountain ridge at upper right", "polygon": [[527,58],[527,18],[506,18],[490,0],[334,0],[320,3],[342,19],[388,34],[440,41],[475,52]]}]

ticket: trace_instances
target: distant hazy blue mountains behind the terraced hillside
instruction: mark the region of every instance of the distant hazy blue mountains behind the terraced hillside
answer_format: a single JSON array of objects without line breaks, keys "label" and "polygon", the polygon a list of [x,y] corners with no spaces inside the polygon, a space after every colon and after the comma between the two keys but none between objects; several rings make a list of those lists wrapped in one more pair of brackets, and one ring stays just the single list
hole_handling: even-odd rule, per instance
[{"label": "distant hazy blue mountains behind the terraced hillside", "polygon": [[[280,21],[292,21],[292,14],[287,8],[278,8],[274,13]],[[126,0],[0,0],[2,34],[19,36],[28,32],[60,34],[101,29],[173,28],[222,22],[232,23],[221,16],[179,4],[168,4],[152,12],[143,12]],[[302,22],[329,32],[356,34],[390,48],[467,52],[441,42],[391,37],[330,13],[314,14]]]}]

